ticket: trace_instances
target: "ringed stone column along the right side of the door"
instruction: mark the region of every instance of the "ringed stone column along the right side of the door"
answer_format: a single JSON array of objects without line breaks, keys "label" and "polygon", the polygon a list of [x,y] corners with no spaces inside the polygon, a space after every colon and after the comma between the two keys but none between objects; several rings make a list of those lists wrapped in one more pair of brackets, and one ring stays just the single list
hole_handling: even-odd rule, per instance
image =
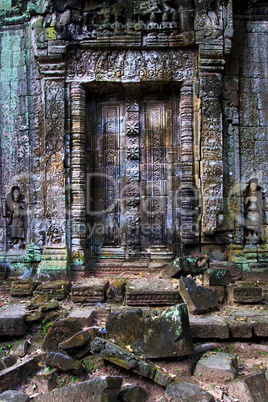
[{"label": "ringed stone column along the right side of the door", "polygon": [[181,87],[181,242],[196,242],[196,192],[194,188],[193,87]]}]

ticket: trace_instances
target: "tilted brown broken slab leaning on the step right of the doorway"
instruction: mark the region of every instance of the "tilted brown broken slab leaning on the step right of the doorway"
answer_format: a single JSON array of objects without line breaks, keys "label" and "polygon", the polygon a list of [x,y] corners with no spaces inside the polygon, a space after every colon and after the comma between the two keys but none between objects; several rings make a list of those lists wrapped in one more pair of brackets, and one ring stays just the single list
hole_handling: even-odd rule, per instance
[{"label": "tilted brown broken slab leaning on the step right of the doorway", "polygon": [[196,286],[192,278],[180,278],[180,294],[191,314],[203,314],[218,308],[218,300],[212,290]]}]

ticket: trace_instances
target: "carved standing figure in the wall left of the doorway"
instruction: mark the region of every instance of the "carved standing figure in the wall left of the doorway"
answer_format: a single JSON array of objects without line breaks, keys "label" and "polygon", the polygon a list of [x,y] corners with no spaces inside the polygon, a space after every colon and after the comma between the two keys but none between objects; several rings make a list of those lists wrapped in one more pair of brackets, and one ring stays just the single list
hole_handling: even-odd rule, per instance
[{"label": "carved standing figure in the wall left of the doorway", "polygon": [[26,208],[18,186],[12,187],[7,197],[9,248],[25,247]]}]

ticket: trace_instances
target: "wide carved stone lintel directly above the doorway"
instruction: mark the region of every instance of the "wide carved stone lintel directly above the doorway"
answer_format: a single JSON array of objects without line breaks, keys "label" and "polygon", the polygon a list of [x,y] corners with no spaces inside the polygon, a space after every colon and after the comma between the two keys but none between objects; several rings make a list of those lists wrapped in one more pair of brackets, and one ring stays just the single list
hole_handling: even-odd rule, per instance
[{"label": "wide carved stone lintel directly above the doorway", "polygon": [[68,79],[81,81],[182,81],[196,73],[191,50],[74,50],[68,53]]}]

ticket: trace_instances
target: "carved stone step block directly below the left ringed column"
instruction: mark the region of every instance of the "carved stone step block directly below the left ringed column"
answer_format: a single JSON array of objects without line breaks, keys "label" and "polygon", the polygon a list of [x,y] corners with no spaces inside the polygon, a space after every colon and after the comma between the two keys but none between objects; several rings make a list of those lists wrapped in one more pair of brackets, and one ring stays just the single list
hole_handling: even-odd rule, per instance
[{"label": "carved stone step block directly below the left ringed column", "polygon": [[80,279],[72,286],[72,301],[74,303],[104,302],[108,285],[107,279]]}]

